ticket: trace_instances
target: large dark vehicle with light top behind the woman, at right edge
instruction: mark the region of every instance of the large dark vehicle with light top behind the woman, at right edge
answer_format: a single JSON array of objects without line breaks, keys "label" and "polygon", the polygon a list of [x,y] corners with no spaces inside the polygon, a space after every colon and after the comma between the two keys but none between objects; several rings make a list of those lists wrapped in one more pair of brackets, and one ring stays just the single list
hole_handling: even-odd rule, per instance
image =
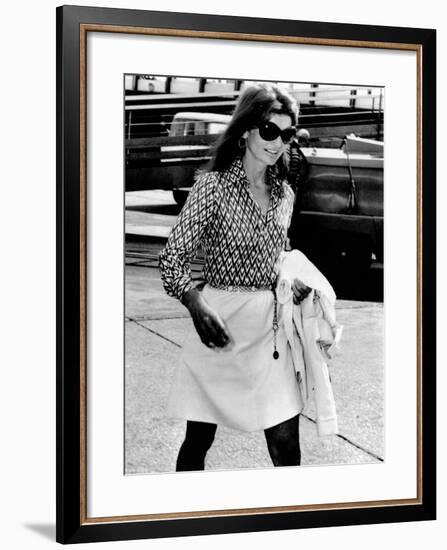
[{"label": "large dark vehicle with light top behind the woman, at right edge", "polygon": [[340,260],[357,271],[383,262],[383,142],[348,136],[300,157],[292,247],[326,272]]}]

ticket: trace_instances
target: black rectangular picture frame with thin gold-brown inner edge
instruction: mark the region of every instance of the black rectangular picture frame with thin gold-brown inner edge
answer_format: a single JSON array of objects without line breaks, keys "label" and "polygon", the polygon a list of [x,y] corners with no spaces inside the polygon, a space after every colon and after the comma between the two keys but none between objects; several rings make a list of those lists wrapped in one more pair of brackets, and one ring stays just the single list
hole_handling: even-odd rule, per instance
[{"label": "black rectangular picture frame with thin gold-brown inner edge", "polygon": [[[418,498],[298,511],[139,520],[86,517],[85,35],[158,29],[226,39],[383,47],[417,52]],[[245,38],[242,38],[244,36]],[[84,86],[84,87],[83,87]],[[84,128],[84,129],[83,129]],[[79,543],[435,519],[436,510],[436,32],[110,8],[57,8],[57,541]],[[79,437],[73,434],[79,434]]]}]

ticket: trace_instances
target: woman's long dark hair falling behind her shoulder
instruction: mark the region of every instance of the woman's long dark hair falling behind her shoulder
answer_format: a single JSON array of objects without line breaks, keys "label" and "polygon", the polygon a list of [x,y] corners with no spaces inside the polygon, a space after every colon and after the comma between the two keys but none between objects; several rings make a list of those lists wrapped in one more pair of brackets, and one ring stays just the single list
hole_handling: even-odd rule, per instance
[{"label": "woman's long dark hair falling behind her shoulder", "polygon": [[[292,125],[295,126],[298,119],[296,101],[277,86],[254,84],[246,88],[239,96],[239,101],[226,130],[213,148],[212,158],[206,170],[217,170],[218,172],[226,170],[237,157],[244,153],[245,149],[240,147],[240,139],[244,132],[266,122],[273,114],[289,115]],[[288,166],[284,154],[280,156],[276,165],[278,175],[285,177]]]}]

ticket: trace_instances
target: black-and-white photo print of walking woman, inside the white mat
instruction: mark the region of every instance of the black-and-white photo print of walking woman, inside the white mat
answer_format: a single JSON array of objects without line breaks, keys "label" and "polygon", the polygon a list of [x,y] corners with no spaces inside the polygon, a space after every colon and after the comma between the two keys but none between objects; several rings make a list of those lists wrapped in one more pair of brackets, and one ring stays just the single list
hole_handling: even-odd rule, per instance
[{"label": "black-and-white photo print of walking woman, inside the white mat", "polygon": [[126,473],[382,462],[385,90],[124,94]]}]

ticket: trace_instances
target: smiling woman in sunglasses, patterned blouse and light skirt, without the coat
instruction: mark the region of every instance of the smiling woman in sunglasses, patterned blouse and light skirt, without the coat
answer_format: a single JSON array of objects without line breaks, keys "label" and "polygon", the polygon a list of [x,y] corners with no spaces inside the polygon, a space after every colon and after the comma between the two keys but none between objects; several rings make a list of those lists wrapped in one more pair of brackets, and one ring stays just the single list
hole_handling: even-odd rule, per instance
[{"label": "smiling woman in sunglasses, patterned blouse and light skirt, without the coat", "polygon": [[[187,421],[177,471],[204,469],[218,425],[264,430],[275,466],[300,464],[303,403],[274,294],[294,205],[285,149],[296,123],[287,93],[247,88],[160,254],[165,290],[195,327],[168,403]],[[205,284],[196,287],[189,262],[199,244]],[[310,291],[298,279],[292,287],[296,303]]]}]

